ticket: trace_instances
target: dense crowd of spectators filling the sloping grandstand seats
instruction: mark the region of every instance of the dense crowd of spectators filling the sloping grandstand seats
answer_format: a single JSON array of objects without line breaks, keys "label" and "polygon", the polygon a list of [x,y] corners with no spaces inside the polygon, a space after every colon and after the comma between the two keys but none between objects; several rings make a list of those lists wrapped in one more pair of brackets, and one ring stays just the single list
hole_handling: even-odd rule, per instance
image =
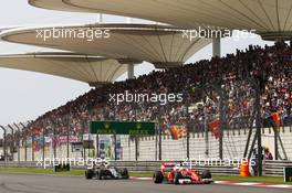
[{"label": "dense crowd of spectators filling the sloping grandstand seats", "polygon": [[[39,117],[22,137],[36,128],[46,128],[49,136],[86,133],[91,120],[160,121],[165,128],[191,122],[192,130],[200,131],[204,120],[217,119],[222,106],[230,127],[237,127],[236,120],[252,116],[257,94],[261,95],[263,119],[279,112],[282,125],[291,124],[291,45],[283,42],[264,47],[250,45],[221,58],[108,84]],[[152,101],[116,105],[108,100],[111,94],[125,90],[149,95],[180,93],[184,100],[164,106]]]}]

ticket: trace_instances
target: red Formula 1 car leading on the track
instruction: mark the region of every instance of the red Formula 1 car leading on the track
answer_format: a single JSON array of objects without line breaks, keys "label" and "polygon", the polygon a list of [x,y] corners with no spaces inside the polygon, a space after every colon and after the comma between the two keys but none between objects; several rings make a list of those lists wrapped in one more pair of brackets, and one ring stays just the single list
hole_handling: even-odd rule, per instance
[{"label": "red Formula 1 car leading on the track", "polygon": [[164,181],[171,184],[210,184],[213,182],[209,170],[201,174],[196,169],[177,163],[161,163],[160,170],[153,175],[154,183]]}]

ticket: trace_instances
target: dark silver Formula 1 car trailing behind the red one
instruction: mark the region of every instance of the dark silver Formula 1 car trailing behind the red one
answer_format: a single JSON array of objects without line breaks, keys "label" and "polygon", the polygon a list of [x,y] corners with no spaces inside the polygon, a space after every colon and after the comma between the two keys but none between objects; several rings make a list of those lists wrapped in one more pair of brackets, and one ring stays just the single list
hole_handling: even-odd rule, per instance
[{"label": "dark silver Formula 1 car trailing behind the red one", "polygon": [[87,180],[121,180],[129,179],[128,170],[112,168],[109,164],[101,164],[98,167],[94,165],[92,169],[85,171],[85,178]]}]

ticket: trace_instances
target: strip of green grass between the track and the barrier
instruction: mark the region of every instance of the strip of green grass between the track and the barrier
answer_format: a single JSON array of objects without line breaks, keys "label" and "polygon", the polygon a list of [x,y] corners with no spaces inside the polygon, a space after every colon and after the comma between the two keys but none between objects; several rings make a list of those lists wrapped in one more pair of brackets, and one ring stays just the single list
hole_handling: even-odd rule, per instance
[{"label": "strip of green grass between the track and the barrier", "polygon": [[[10,173],[38,173],[38,174],[63,174],[63,175],[84,175],[84,170],[71,170],[70,172],[54,172],[52,169],[34,169],[34,168],[0,168],[0,172]],[[129,172],[131,176],[138,178],[152,178],[153,172]],[[215,181],[237,181],[237,182],[264,182],[264,183],[281,183],[283,184],[282,176],[225,176],[225,175],[213,175]],[[291,184],[292,183],[286,183]]]}]

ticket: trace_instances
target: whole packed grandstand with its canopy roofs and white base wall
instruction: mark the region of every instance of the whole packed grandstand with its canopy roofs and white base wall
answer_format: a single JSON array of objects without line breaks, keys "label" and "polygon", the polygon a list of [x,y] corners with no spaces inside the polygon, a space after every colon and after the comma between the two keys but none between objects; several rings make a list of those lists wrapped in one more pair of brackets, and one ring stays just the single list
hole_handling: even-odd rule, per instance
[{"label": "whole packed grandstand with its canopy roofs and white base wall", "polygon": [[[82,57],[77,62],[74,57],[76,68],[87,65],[88,60],[100,60],[100,56],[106,57],[103,58],[106,66],[108,61],[115,61],[116,67],[147,61],[158,68],[165,68],[139,77],[131,76],[124,82],[114,82],[125,72],[123,68],[114,77],[93,81],[88,79],[92,76],[88,74],[82,79],[66,74],[64,68],[61,68],[64,66],[64,56],[54,55],[53,60],[44,57],[46,54],[35,54],[38,57],[33,54],[0,57],[0,66],[3,67],[53,74],[90,84],[108,83],[40,116],[25,125],[22,132],[8,133],[6,139],[11,147],[10,153],[14,160],[25,161],[45,157],[79,158],[102,154],[117,160],[152,161],[182,160],[197,156],[220,159],[251,158],[255,147],[258,150],[269,147],[275,160],[291,160],[292,42],[288,44],[284,41],[291,40],[292,36],[289,26],[291,23],[289,8],[292,4],[280,1],[275,6],[274,1],[267,1],[269,3],[263,4],[261,1],[247,0],[243,3],[238,0],[232,1],[232,7],[229,4],[231,1],[219,0],[215,0],[212,4],[197,0],[171,3],[166,0],[132,3],[118,0],[116,1],[118,6],[105,0],[96,0],[94,3],[87,0],[29,1],[46,9],[101,11],[150,19],[174,26],[149,24],[59,26],[73,30],[92,28],[111,30],[111,39],[93,42],[36,39],[38,30],[58,28],[55,25],[14,28],[1,32],[0,37],[3,41],[86,54],[86,64],[82,54],[77,54]],[[142,11],[145,9],[148,11]],[[211,15],[210,12],[218,17]],[[233,54],[220,57],[220,39],[196,39],[192,42],[181,39],[181,30],[198,25],[229,30],[254,29],[263,39],[277,41],[272,46],[250,45],[246,51],[237,50]],[[211,41],[213,41],[211,60],[185,64]],[[75,54],[70,56],[72,55]],[[33,64],[39,62],[42,65],[38,65],[40,68],[36,68]],[[44,67],[43,64],[51,67],[46,65]],[[72,66],[72,63],[70,65]],[[101,68],[95,73],[105,75]],[[133,69],[129,71],[133,74]],[[79,73],[82,72],[79,69]],[[153,101],[123,101],[119,105],[111,103],[111,95],[125,90],[149,95],[181,94],[182,101],[165,105]],[[152,121],[156,122],[156,135],[147,137],[91,135],[88,122],[94,120]],[[181,130],[181,136],[174,135],[173,130],[177,128]],[[14,138],[21,141],[18,151],[14,151]],[[93,146],[87,144],[84,148],[84,141]]]}]

